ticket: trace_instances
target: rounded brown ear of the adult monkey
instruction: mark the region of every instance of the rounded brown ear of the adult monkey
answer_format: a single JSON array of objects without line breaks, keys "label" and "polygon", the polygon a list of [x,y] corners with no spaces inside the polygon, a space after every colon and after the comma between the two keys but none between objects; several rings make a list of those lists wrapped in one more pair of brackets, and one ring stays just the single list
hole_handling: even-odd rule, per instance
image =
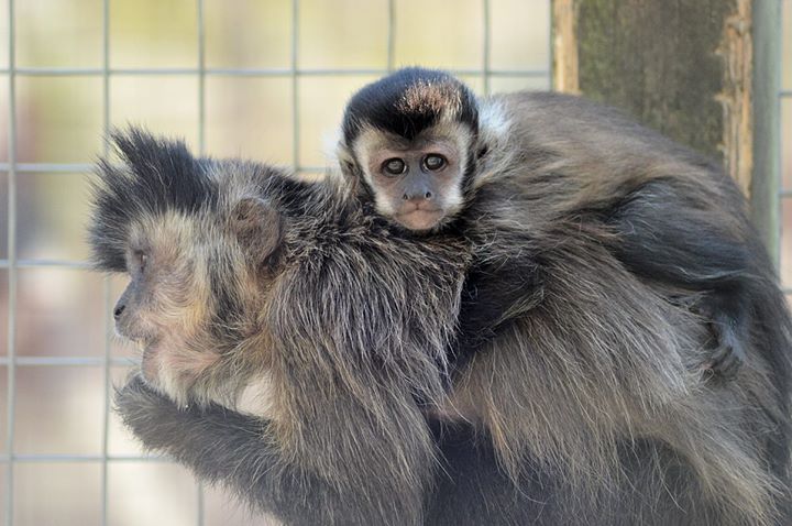
[{"label": "rounded brown ear of the adult monkey", "polygon": [[280,244],[280,213],[260,197],[244,197],[231,209],[229,226],[254,264],[264,263]]}]

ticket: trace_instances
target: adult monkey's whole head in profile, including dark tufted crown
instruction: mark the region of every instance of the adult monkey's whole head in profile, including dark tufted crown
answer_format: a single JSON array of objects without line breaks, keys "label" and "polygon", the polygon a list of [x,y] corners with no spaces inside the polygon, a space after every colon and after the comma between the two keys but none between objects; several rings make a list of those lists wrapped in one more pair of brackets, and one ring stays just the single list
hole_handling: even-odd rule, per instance
[{"label": "adult monkey's whole head in profile, including dark tufted crown", "polygon": [[114,139],[125,164],[101,164],[95,180],[92,260],[129,276],[113,317],[141,348],[146,382],[186,402],[197,384],[217,384],[240,348],[267,348],[254,340],[278,274],[280,216],[257,197],[266,174],[255,167],[220,172],[134,130]]}]

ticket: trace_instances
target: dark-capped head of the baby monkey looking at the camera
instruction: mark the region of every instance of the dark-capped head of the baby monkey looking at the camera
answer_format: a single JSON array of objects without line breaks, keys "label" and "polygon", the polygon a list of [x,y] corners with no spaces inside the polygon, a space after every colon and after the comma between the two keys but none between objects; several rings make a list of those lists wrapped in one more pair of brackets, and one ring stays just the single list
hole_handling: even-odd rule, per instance
[{"label": "dark-capped head of the baby monkey looking at the camera", "polygon": [[361,89],[343,118],[341,167],[384,217],[436,231],[464,208],[479,141],[479,103],[439,70],[406,68]]}]

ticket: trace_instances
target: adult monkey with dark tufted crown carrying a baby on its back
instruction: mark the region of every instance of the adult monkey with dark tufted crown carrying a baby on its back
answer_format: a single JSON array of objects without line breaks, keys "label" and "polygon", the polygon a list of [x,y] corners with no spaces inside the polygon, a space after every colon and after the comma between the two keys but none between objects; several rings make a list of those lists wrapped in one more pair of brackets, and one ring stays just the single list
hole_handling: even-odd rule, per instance
[{"label": "adult monkey with dark tufted crown carrying a baby on its back", "polygon": [[[493,179],[475,238],[415,237],[338,179],[116,141],[91,244],[131,278],[143,375],[117,403],[146,447],[287,524],[788,524],[790,321],[761,260],[746,365],[706,382],[697,293],[612,249],[629,198]],[[484,336],[449,393],[455,320]]]}]

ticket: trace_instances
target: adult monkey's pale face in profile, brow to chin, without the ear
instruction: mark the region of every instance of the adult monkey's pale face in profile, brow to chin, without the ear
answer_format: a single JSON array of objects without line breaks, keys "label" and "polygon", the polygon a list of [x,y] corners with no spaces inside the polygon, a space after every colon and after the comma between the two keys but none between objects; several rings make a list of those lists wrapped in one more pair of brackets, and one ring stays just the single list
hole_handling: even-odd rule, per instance
[{"label": "adult monkey's pale face in profile, brow to chin, without the ear", "polygon": [[130,281],[113,318],[117,333],[143,351],[143,374],[153,385],[176,381],[163,371],[179,371],[186,381],[219,358],[201,341],[215,308],[202,238],[193,218],[177,213],[141,218],[129,230]]}]

